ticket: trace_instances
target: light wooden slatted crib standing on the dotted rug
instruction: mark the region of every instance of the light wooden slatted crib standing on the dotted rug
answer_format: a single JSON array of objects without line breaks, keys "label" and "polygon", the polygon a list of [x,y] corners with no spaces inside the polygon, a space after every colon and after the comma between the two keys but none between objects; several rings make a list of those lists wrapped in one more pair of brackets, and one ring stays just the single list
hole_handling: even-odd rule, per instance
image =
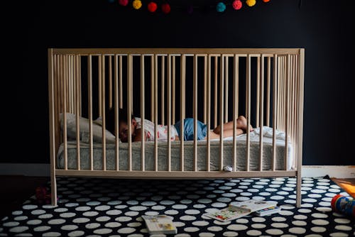
[{"label": "light wooden slatted crib standing on the dotted rug", "polygon": [[[50,48],[52,204],[57,204],[57,176],[297,177],[300,206],[304,58],[302,48]],[[114,108],[118,118],[122,107],[129,112],[128,121],[131,114],[153,121],[153,142],[133,143],[130,137],[121,143],[118,129],[107,140],[105,111]],[[225,140],[223,132],[219,140],[209,133],[203,141],[197,136],[192,141],[156,140],[158,124],[168,126],[170,137],[170,126],[188,116],[195,118],[196,134],[197,119],[212,129],[239,115],[258,129],[258,137],[248,130],[242,141],[239,136]],[[98,117],[99,140],[94,131]],[[84,118],[87,131],[80,127]]]}]

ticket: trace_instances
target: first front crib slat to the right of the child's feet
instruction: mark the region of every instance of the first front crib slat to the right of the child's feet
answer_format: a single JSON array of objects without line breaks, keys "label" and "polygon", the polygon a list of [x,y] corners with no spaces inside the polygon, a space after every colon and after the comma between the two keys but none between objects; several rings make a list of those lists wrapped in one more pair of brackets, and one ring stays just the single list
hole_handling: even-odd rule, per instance
[{"label": "first front crib slat to the right of the child's feet", "polygon": [[265,62],[265,56],[261,55],[261,68],[260,68],[260,72],[261,72],[261,80],[260,80],[260,140],[259,140],[259,144],[260,144],[260,153],[259,153],[259,170],[262,171],[263,170],[263,121],[264,121],[264,62]]}]

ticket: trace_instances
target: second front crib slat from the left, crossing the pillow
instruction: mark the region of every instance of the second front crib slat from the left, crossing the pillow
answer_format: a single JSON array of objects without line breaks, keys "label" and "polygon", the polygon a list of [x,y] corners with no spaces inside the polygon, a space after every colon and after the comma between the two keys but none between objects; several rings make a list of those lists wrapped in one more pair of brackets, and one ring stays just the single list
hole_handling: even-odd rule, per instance
[{"label": "second front crib slat from the left, crossing the pillow", "polygon": [[79,77],[79,60],[80,56],[75,55],[75,82],[76,82],[76,118],[77,118],[77,170],[80,170],[80,77]]}]

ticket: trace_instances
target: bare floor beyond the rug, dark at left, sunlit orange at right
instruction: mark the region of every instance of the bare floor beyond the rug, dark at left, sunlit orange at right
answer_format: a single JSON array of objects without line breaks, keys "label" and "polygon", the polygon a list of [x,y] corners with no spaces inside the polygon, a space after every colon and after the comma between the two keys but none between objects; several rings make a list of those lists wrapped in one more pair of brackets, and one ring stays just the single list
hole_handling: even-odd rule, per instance
[{"label": "bare floor beyond the rug, dark at left, sunlit orange at right", "polygon": [[[50,177],[0,175],[0,219],[20,209],[23,202],[35,195],[35,188],[44,186]],[[333,179],[340,187],[355,198],[355,179]]]}]

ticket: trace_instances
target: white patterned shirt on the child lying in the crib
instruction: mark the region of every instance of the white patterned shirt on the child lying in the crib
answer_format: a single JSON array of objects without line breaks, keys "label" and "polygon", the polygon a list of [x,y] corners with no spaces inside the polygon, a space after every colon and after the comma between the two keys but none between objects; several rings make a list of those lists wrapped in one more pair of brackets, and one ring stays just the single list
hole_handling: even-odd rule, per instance
[{"label": "white patterned shirt on the child lying in the crib", "polygon": [[[137,122],[137,127],[136,129],[141,129],[142,128],[142,122],[141,118],[135,117],[136,122]],[[154,140],[154,135],[155,135],[155,124],[148,120],[144,119],[144,131],[146,132],[146,140],[152,141]],[[157,127],[158,130],[158,138],[157,140],[168,140],[168,126],[167,125],[161,125],[158,124]],[[143,135],[143,134],[142,134]],[[176,131],[176,128],[174,125],[170,126],[170,140],[175,140],[175,136],[178,136],[178,131]]]}]

